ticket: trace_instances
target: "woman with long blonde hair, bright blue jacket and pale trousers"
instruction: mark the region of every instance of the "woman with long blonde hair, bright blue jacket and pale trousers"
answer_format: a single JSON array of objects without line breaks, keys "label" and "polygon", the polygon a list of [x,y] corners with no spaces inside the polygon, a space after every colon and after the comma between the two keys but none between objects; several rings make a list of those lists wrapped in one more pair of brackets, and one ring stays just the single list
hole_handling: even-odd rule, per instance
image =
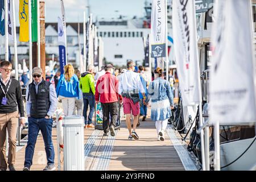
[{"label": "woman with long blonde hair, bright blue jacket and pale trousers", "polygon": [[65,116],[72,115],[75,109],[75,99],[79,96],[79,78],[74,74],[74,68],[71,64],[64,67],[64,75],[56,87],[57,97],[61,99]]}]

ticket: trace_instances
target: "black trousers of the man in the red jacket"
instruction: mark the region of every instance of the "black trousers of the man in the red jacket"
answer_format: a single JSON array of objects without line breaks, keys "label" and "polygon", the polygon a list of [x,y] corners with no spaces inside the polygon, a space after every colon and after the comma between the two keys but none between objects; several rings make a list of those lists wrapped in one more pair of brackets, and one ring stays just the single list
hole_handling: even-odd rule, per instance
[{"label": "black trousers of the man in the red jacket", "polygon": [[[118,102],[112,103],[101,103],[102,113],[103,113],[103,130],[105,133],[108,133],[109,126],[113,125],[115,127],[115,123],[117,122],[118,117]],[[111,117],[109,123],[109,114]]]}]

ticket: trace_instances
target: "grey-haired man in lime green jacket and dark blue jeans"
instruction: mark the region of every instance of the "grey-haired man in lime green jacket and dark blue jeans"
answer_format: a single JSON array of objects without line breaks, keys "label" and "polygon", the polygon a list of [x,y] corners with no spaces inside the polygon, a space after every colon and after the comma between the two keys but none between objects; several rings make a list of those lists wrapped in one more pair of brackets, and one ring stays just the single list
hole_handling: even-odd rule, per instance
[{"label": "grey-haired man in lime green jacket and dark blue jeans", "polygon": [[[85,120],[85,128],[94,127],[92,123],[94,108],[95,108],[95,86],[94,86],[94,66],[89,64],[87,72],[81,74],[79,81],[80,89],[82,90],[82,97],[84,100],[84,111],[82,115]],[[87,118],[88,105],[90,106],[90,113]]]}]

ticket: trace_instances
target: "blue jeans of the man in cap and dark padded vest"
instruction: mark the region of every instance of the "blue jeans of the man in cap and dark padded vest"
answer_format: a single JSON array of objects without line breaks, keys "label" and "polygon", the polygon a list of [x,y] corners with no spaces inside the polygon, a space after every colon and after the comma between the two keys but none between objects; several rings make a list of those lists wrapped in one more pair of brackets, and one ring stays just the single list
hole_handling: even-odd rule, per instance
[{"label": "blue jeans of the man in cap and dark padded vest", "polygon": [[28,118],[28,142],[25,152],[24,167],[32,166],[32,160],[35,150],[36,139],[39,130],[43,135],[44,147],[46,150],[47,164],[54,164],[54,148],[52,143],[52,119],[46,118]]}]

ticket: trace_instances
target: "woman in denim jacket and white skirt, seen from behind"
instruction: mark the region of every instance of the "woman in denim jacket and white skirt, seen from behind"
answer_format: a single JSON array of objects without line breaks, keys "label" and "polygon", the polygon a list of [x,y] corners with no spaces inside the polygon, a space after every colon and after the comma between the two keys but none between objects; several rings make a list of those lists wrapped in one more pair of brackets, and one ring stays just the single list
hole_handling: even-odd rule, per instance
[{"label": "woman in denim jacket and white skirt, seen from behind", "polygon": [[171,109],[174,108],[174,95],[172,94],[170,82],[163,79],[163,70],[157,68],[155,80],[148,86],[146,104],[151,100],[151,119],[155,121],[158,140],[164,140],[164,131],[171,117]]}]

